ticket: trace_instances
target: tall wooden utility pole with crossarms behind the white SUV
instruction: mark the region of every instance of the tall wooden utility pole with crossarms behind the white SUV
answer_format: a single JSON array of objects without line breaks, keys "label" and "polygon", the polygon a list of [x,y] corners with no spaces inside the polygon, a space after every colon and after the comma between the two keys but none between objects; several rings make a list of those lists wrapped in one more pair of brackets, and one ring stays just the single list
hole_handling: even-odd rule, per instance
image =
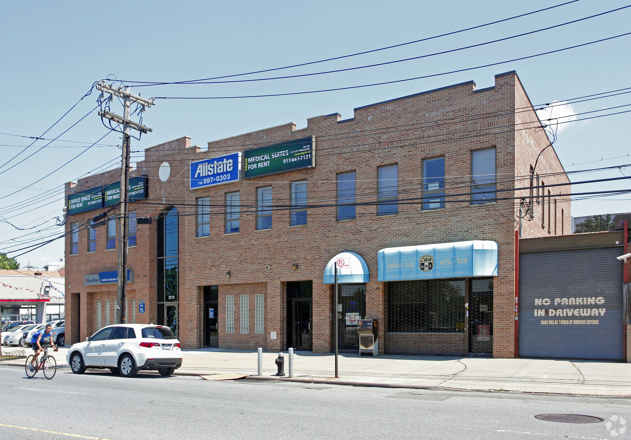
[{"label": "tall wooden utility pole with crossarms behind the white SUV", "polygon": [[[120,199],[120,215],[121,221],[119,223],[119,264],[118,264],[118,285],[116,296],[116,322],[124,324],[126,320],[125,303],[126,303],[126,291],[127,291],[127,244],[129,242],[129,162],[131,156],[131,136],[129,136],[129,130],[134,129],[139,132],[147,133],[151,130],[149,127],[138,124],[129,119],[131,105],[137,103],[143,107],[151,107],[154,104],[153,99],[143,98],[142,96],[134,95],[129,92],[129,87],[115,88],[105,81],[101,81],[97,84],[97,89],[103,91],[103,93],[110,93],[112,95],[123,98],[123,116],[116,115],[115,113],[102,110],[98,112],[100,117],[112,120],[117,124],[122,124],[122,153],[121,153],[121,199]],[[144,108],[143,108],[144,110]]]}]

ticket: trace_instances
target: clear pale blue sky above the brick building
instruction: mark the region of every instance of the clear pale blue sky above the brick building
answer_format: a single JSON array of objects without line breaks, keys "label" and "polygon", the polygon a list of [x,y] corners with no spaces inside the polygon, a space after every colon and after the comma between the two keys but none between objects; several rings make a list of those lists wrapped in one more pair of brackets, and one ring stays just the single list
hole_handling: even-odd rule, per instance
[{"label": "clear pale blue sky above the brick building", "polygon": [[[482,1],[475,4],[464,0],[4,3],[0,28],[3,78],[0,132],[40,136],[90,89],[94,81],[109,74],[127,81],[182,81],[269,69],[417,40],[559,3],[562,1]],[[414,57],[529,32],[622,6],[627,3],[581,0],[451,37],[281,72],[307,73]],[[611,37],[629,32],[630,22],[631,8],[507,42],[420,61],[262,83],[157,86],[142,88],[142,95],[249,95],[391,81],[500,62]],[[193,144],[204,146],[214,139],[286,122],[304,127],[308,117],[322,113],[339,112],[343,118],[348,118],[353,116],[354,107],[471,79],[476,81],[478,88],[488,87],[493,85],[494,74],[510,70],[517,71],[535,104],[631,87],[630,43],[631,36],[627,36],[500,66],[347,91],[239,100],[158,100],[155,107],[144,113],[144,124],[152,127],[153,133],[143,136],[141,141],[134,141],[133,149],[141,150],[185,135],[192,137]],[[81,101],[45,137],[56,137],[68,129],[95,107],[96,98],[97,93],[93,93]],[[572,110],[587,112],[628,103],[631,103],[631,94],[579,103]],[[631,107],[620,110],[628,109]],[[624,129],[630,115],[625,113],[564,124],[555,149],[566,169],[631,163],[631,156],[615,158],[631,151]],[[100,118],[92,113],[61,139],[91,144],[106,132]],[[4,163],[21,150],[18,146],[28,145],[32,139],[0,135],[0,141],[3,144],[0,163]],[[115,145],[120,139],[112,133],[102,143]],[[45,141],[35,142],[35,147],[43,145]],[[72,144],[51,144],[68,145]],[[0,172],[35,153],[35,147],[0,168]],[[0,199],[0,215],[20,228],[61,216],[64,204],[61,193],[36,203],[27,199],[115,159],[119,156],[117,147],[95,146],[32,188],[9,194],[18,190],[13,187],[30,185],[83,150],[44,148],[0,174],[0,185],[3,185],[0,186],[0,197],[4,197]],[[572,165],[579,163],[585,164]],[[631,176],[631,167],[622,172]],[[581,175],[586,178],[620,176],[622,173],[617,169]],[[631,188],[631,182],[574,186],[574,191],[603,188]],[[631,211],[628,198],[624,195],[575,201],[572,202],[572,214],[628,212]],[[41,240],[40,236],[51,233],[61,234],[62,228],[47,228],[53,224],[49,221],[32,231],[16,231],[8,224],[0,223],[0,249],[21,247],[11,239],[25,240],[18,237],[27,232],[33,232],[26,237],[32,240]],[[47,229],[36,232],[43,228]],[[41,267],[62,257],[63,243],[58,240],[19,257],[18,261],[26,265],[30,260]]]}]

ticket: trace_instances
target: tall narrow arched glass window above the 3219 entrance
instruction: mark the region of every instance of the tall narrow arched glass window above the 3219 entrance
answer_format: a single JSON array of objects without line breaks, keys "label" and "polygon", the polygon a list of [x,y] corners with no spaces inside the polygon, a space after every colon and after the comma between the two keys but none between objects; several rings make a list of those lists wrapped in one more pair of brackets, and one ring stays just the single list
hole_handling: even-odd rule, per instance
[{"label": "tall narrow arched glass window above the 3219 entrance", "polygon": [[158,217],[157,323],[178,333],[179,216],[172,207]]}]

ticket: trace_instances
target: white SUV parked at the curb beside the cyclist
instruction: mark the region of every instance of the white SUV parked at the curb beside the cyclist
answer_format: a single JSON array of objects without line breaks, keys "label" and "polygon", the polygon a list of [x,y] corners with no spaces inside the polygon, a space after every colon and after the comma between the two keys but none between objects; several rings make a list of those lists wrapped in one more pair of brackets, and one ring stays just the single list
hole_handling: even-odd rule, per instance
[{"label": "white SUV parked at the curb beside the cyclist", "polygon": [[86,368],[109,368],[126,378],[139,370],[158,370],[162,376],[170,376],[182,366],[182,352],[168,327],[117,324],[98,330],[86,342],[73,344],[66,360],[76,374]]}]

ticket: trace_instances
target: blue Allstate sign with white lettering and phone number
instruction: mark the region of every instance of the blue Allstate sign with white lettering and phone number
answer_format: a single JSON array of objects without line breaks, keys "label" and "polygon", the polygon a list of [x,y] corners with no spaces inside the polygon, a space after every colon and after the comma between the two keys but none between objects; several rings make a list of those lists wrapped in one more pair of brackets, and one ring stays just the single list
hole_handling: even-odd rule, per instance
[{"label": "blue Allstate sign with white lettering and phone number", "polygon": [[191,162],[191,189],[241,180],[241,152]]}]

